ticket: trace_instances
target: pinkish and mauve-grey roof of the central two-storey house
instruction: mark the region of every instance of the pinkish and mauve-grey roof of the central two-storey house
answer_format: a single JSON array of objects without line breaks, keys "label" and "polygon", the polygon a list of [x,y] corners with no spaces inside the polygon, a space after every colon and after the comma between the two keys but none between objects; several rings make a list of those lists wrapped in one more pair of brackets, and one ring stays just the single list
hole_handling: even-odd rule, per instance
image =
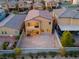
[{"label": "pinkish and mauve-grey roof of the central two-storey house", "polygon": [[25,21],[26,20],[31,20],[31,19],[33,19],[35,17],[38,17],[38,16],[47,18],[49,20],[52,19],[52,16],[51,16],[50,12],[47,11],[47,10],[31,10],[31,11],[28,12]]}]

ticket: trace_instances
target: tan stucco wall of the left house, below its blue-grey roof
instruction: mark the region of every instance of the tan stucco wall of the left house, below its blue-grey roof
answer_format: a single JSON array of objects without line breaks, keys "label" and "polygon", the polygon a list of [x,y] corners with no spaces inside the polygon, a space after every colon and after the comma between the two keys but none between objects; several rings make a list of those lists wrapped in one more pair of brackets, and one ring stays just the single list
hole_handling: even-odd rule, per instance
[{"label": "tan stucco wall of the left house, below its blue-grey roof", "polygon": [[[7,32],[7,34],[2,34],[2,32],[4,33]],[[0,27],[0,36],[10,36],[10,35],[16,36],[18,34],[19,34],[18,30],[10,29],[7,27]]]}]

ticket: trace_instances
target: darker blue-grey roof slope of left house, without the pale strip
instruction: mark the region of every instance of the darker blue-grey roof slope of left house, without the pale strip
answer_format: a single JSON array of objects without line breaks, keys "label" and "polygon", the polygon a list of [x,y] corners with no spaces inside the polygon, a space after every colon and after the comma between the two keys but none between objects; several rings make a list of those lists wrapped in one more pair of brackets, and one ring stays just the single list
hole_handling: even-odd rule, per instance
[{"label": "darker blue-grey roof slope of left house, without the pale strip", "polygon": [[15,15],[11,20],[9,20],[4,26],[8,28],[13,28],[20,30],[21,25],[25,20],[26,15]]}]

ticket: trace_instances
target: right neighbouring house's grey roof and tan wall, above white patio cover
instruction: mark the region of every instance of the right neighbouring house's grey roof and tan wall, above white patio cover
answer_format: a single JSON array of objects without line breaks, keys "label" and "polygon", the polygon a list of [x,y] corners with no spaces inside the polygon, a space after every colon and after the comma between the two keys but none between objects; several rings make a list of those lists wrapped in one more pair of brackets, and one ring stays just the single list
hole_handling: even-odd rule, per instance
[{"label": "right neighbouring house's grey roof and tan wall, above white patio cover", "polygon": [[60,25],[79,25],[79,10],[66,10],[59,16]]}]

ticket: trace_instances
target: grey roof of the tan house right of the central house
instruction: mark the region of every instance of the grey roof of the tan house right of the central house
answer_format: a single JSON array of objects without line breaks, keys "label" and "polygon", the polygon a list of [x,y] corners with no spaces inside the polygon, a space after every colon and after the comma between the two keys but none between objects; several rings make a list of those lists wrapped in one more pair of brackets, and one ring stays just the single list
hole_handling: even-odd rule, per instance
[{"label": "grey roof of the tan house right of the central house", "polygon": [[67,9],[66,11],[64,11],[64,13],[62,13],[61,15],[59,15],[59,18],[74,18],[74,19],[79,19],[79,11],[77,9],[75,9],[75,10],[69,10],[69,9]]}]

